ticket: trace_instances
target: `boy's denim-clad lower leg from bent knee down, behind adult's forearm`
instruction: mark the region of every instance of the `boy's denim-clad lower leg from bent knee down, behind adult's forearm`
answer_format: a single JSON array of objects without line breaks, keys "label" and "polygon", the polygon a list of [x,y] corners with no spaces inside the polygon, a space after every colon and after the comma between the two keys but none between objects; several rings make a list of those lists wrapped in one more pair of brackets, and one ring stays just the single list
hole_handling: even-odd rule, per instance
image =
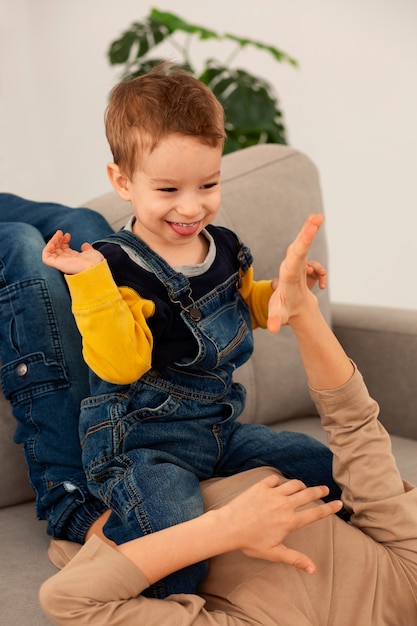
[{"label": "boy's denim-clad lower leg from bent knee down, behind adult's forearm", "polygon": [[[142,449],[121,454],[102,469],[108,474],[106,500],[113,510],[103,528],[107,537],[125,543],[203,514],[198,478],[174,461],[172,454]],[[174,572],[151,585],[144,595],[165,598],[173,593],[197,593],[207,567],[201,561]]]}]

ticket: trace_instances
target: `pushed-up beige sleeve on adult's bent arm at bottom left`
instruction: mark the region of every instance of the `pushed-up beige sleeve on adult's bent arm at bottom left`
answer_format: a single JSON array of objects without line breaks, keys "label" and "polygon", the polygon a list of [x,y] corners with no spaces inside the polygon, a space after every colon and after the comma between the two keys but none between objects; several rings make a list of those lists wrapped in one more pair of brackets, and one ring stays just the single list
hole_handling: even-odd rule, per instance
[{"label": "pushed-up beige sleeve on adult's bent arm at bottom left", "polygon": [[93,536],[61,572],[41,588],[40,600],[55,624],[97,626],[247,626],[246,618],[209,612],[197,595],[146,598],[143,574]]}]

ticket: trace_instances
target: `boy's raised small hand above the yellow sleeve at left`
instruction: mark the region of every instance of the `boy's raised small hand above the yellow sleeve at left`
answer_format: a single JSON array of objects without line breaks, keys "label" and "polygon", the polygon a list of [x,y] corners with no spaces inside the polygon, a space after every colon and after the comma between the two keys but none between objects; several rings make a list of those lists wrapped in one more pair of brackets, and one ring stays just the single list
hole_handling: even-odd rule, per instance
[{"label": "boy's raised small hand above the yellow sleeve at left", "polygon": [[70,248],[71,235],[57,230],[42,252],[45,265],[54,267],[64,274],[78,274],[103,260],[101,252],[89,243],[83,243],[81,252]]}]

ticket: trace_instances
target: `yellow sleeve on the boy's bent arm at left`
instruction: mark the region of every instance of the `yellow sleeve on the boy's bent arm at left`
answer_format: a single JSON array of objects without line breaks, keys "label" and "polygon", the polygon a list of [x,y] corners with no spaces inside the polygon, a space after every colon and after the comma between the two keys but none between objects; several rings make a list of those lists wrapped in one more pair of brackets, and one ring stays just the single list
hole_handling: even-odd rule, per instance
[{"label": "yellow sleeve on the boy's bent arm at left", "polygon": [[110,383],[140,378],[152,362],[153,338],[146,320],[155,311],[154,303],[133,289],[117,287],[106,260],[65,278],[86,363]]}]

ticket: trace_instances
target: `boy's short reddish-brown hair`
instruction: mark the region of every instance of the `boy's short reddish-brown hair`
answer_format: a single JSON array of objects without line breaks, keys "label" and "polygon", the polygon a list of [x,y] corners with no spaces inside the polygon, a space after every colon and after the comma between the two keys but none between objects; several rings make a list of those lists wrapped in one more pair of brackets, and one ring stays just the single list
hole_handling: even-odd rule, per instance
[{"label": "boy's short reddish-brown hair", "polygon": [[169,63],[156,66],[112,90],[105,114],[106,136],[114,162],[132,179],[140,149],[152,151],[169,133],[224,145],[224,111],[206,85]]}]

